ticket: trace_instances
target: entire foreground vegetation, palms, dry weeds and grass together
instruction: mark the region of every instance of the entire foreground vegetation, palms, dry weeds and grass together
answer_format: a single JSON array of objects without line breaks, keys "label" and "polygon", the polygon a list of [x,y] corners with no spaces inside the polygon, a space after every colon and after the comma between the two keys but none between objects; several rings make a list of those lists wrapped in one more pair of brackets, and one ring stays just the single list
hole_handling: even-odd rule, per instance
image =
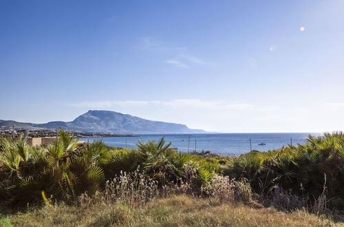
[{"label": "entire foreground vegetation, palms, dry weeds and grass together", "polygon": [[[140,226],[140,221],[202,226],[208,223],[204,217],[211,219],[213,226],[281,224],[272,216],[286,219],[286,225],[296,225],[288,222],[292,218],[301,221],[300,225],[313,226],[334,224],[314,215],[342,219],[342,132],[310,136],[305,144],[234,158],[178,153],[169,149],[170,145],[164,138],[139,142],[137,149],[114,149],[101,141],[78,145],[74,136],[62,129],[59,139],[45,147],[30,146],[25,135],[3,138],[0,225],[23,225],[26,220],[28,226],[63,226],[67,212],[74,216],[65,221],[92,225],[101,220],[105,226]],[[293,212],[280,213],[264,206]],[[94,215],[97,209],[103,211]],[[295,211],[300,209],[314,215]],[[235,215],[229,213],[246,216],[235,222]],[[87,217],[87,222],[81,220],[82,215],[92,217]],[[177,217],[182,222],[175,222]],[[270,218],[269,223],[264,222]]]}]

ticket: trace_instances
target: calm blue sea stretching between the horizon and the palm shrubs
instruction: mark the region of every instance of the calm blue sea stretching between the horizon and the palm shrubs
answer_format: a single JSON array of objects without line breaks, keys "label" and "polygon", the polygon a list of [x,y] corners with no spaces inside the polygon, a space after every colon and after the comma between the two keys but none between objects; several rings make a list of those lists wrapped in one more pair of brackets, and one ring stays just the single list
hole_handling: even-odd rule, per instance
[{"label": "calm blue sea stretching between the horizon and the palm shrubs", "polygon": [[[172,142],[171,147],[178,151],[211,151],[222,155],[239,155],[252,149],[268,151],[286,147],[292,144],[305,143],[308,135],[319,136],[320,133],[212,133],[212,134],[169,134],[169,135],[136,135],[135,137],[103,137],[82,138],[80,140],[103,140],[112,147],[134,148],[138,140],[160,140],[165,137],[166,142]],[[261,146],[259,143],[265,143]]]}]

